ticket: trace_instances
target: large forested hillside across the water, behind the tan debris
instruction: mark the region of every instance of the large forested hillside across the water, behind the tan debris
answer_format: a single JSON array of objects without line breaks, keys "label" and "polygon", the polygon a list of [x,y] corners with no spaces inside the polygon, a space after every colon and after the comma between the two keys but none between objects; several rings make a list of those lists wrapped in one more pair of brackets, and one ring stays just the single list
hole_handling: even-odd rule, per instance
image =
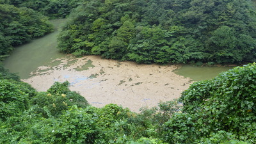
[{"label": "large forested hillside across the water, behind the tan debris", "polygon": [[138,63],[255,61],[255,18],[247,0],[84,1],[58,48]]}]

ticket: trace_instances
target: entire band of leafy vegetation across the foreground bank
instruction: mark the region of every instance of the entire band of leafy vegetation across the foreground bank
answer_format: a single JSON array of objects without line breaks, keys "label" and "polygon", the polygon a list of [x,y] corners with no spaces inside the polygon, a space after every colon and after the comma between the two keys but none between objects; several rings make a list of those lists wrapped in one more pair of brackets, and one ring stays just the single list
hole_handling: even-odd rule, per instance
[{"label": "entire band of leafy vegetation across the foreground bank", "polygon": [[36,92],[4,68],[0,79],[0,143],[256,142],[256,63],[195,82],[179,101],[141,113],[92,107],[68,82]]}]

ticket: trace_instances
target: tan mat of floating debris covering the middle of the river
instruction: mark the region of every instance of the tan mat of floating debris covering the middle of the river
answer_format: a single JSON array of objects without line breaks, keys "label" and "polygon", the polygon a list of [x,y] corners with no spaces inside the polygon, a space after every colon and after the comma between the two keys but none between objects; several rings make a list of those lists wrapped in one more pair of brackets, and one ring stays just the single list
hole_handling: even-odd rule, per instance
[{"label": "tan mat of floating debris covering the middle of the river", "polygon": [[141,107],[179,98],[190,83],[172,72],[176,65],[138,65],[100,56],[67,56],[53,63],[58,65],[38,67],[34,76],[23,81],[38,91],[46,91],[55,81],[69,81],[70,90],[79,92],[96,107],[114,103],[139,112]]}]

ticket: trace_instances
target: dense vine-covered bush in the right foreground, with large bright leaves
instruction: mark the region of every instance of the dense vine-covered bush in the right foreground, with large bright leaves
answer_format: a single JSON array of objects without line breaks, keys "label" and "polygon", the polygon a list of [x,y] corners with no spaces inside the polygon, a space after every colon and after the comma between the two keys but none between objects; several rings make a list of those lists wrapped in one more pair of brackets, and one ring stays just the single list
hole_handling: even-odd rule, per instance
[{"label": "dense vine-covered bush in the right foreground, with large bright leaves", "polygon": [[236,67],[212,80],[193,83],[182,93],[183,111],[194,120],[199,136],[226,131],[240,140],[255,141],[255,74],[255,63]]}]

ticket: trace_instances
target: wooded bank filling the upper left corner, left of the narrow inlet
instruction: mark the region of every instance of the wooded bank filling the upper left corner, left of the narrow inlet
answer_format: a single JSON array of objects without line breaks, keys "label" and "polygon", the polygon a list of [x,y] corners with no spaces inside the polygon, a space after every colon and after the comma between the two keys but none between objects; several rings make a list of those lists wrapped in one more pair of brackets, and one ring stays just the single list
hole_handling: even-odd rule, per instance
[{"label": "wooded bank filling the upper left corner, left of the narrow inlet", "polygon": [[0,0],[0,61],[13,47],[53,31],[48,19],[65,18],[80,0]]}]

